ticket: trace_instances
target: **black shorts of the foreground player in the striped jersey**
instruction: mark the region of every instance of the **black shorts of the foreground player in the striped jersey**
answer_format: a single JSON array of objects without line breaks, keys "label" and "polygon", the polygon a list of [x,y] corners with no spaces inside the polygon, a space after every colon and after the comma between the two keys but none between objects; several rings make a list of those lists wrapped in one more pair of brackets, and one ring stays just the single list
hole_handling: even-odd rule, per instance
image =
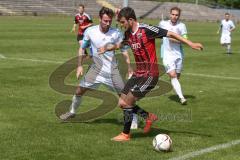
[{"label": "black shorts of the foreground player in the striped jersey", "polygon": [[137,98],[143,98],[158,83],[158,77],[137,77],[132,76],[125,84],[122,93],[127,95],[131,92]]}]

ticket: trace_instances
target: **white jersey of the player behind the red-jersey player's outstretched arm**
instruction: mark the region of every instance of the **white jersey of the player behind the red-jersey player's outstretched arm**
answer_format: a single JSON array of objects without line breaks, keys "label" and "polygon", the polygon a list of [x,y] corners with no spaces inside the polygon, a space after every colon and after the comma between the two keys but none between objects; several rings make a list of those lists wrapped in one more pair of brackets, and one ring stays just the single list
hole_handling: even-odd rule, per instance
[{"label": "white jersey of the player behind the red-jersey player's outstretched arm", "polygon": [[[178,22],[176,25],[172,25],[171,21],[161,21],[159,27],[177,33],[181,36],[187,34],[187,29],[184,23]],[[161,57],[163,59],[176,59],[183,57],[182,45],[180,43],[174,43],[169,38],[164,37],[161,46]]]}]

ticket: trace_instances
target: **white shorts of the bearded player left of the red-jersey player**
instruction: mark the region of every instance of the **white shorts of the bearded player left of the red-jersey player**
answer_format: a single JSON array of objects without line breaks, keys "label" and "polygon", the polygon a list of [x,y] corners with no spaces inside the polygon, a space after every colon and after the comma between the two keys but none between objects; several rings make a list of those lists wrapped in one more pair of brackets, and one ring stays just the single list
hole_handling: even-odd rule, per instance
[{"label": "white shorts of the bearded player left of the red-jersey player", "polygon": [[97,89],[101,84],[107,86],[111,91],[121,93],[124,82],[118,68],[112,70],[112,73],[99,72],[91,66],[86,75],[80,81],[80,86],[84,88]]}]

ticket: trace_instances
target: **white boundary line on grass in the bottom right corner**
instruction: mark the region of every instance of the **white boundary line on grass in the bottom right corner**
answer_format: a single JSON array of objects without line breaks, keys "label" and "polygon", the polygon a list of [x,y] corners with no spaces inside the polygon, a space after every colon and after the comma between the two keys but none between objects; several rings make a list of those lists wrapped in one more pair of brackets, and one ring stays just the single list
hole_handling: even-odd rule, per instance
[{"label": "white boundary line on grass in the bottom right corner", "polygon": [[226,148],[230,148],[233,147],[235,145],[240,144],[240,139],[238,140],[233,140],[230,141],[228,143],[223,143],[223,144],[219,144],[219,145],[215,145],[209,148],[204,148],[198,151],[194,151],[194,152],[190,152],[188,154],[185,154],[183,156],[179,156],[179,157],[174,157],[174,158],[170,158],[168,160],[186,160],[186,159],[190,159],[190,158],[194,158],[203,154],[207,154],[207,153],[211,153],[217,150],[221,150],[221,149],[226,149]]}]

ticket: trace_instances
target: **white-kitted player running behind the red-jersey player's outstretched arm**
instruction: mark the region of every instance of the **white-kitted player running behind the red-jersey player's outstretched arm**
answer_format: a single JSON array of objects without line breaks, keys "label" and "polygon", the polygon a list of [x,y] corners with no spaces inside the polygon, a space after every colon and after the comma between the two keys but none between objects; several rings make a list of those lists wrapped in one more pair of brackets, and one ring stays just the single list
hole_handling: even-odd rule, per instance
[{"label": "white-kitted player running behind the red-jersey player's outstretched arm", "polygon": [[[179,21],[181,9],[173,7],[170,9],[170,20],[160,21],[159,26],[167,29],[187,39],[187,29],[184,23]],[[187,100],[183,96],[179,78],[183,67],[183,49],[180,41],[164,37],[161,46],[161,58],[171,84],[177,93],[180,103],[186,104]]]}]

